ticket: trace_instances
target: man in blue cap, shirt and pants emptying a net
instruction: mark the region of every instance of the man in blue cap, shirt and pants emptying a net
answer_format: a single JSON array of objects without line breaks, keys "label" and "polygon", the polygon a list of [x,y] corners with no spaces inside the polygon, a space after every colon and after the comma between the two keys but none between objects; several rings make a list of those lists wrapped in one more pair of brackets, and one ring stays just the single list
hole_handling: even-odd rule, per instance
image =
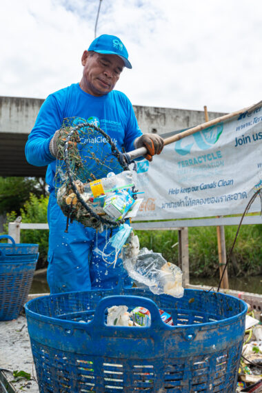
[{"label": "man in blue cap, shirt and pants emptying a net", "polygon": [[[125,151],[145,146],[145,158],[163,149],[163,139],[155,134],[142,134],[132,105],[122,92],[113,90],[124,67],[132,68],[128,51],[118,37],[103,34],[92,41],[81,59],[83,77],[50,94],[41,106],[37,121],[26,143],[26,159],[32,165],[48,165],[49,185],[48,224],[48,285],[51,293],[114,288],[125,273],[119,259],[113,268],[95,249],[110,254],[107,231],[97,232],[79,222],[70,224],[65,233],[66,216],[57,205],[54,194],[54,174],[57,161],[57,138],[65,118],[85,119],[99,125]],[[116,231],[116,230],[114,230]],[[113,232],[114,233],[114,232]],[[114,259],[114,256],[112,256]]]}]

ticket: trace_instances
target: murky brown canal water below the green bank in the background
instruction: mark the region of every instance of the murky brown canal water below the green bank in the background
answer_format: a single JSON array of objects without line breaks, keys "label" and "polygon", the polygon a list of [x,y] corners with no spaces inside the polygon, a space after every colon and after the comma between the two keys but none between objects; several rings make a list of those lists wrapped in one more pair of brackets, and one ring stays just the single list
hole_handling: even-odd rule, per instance
[{"label": "murky brown canal water below the green bank in the background", "polygon": [[[260,276],[243,276],[243,277],[230,277],[228,279],[230,289],[238,290],[239,292],[251,292],[262,294],[262,275]],[[193,285],[208,285],[210,287],[217,287],[219,279],[211,278],[190,278],[190,284]],[[34,275],[30,294],[48,293],[49,287],[46,281],[46,271],[37,272]]]}]

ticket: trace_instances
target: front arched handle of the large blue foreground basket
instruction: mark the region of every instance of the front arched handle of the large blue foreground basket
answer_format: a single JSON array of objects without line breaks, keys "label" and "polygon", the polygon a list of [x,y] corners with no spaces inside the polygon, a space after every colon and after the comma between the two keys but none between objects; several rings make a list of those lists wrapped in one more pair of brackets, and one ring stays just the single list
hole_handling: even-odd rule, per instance
[{"label": "front arched handle of the large blue foreground basket", "polygon": [[[106,296],[105,298],[99,301],[97,308],[94,312],[94,325],[99,328],[118,328],[118,329],[134,329],[135,326],[108,326],[105,325],[105,309],[112,307],[112,305],[137,305],[144,308],[147,308],[151,314],[151,325],[144,326],[143,328],[147,329],[163,329],[165,328],[165,324],[161,320],[161,316],[159,313],[159,309],[151,299],[144,298],[142,296],[128,296],[128,295],[115,295],[115,296]],[[139,328],[140,329],[140,328]]]}]

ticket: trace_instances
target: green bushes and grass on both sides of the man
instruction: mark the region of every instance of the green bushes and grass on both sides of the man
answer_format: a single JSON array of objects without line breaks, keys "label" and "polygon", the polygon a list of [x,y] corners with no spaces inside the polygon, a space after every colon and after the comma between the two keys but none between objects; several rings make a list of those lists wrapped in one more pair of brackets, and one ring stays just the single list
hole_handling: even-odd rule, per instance
[{"label": "green bushes and grass on both sides of the man", "polygon": [[[48,197],[30,198],[23,204],[19,215],[23,223],[46,223]],[[5,233],[8,222],[14,221],[17,213],[7,214]],[[232,247],[236,226],[225,226],[225,244],[227,254]],[[139,236],[140,248],[146,247],[154,252],[161,252],[163,257],[178,264],[178,232],[176,230],[135,231]],[[230,276],[250,276],[262,273],[262,225],[243,225],[228,265]],[[190,274],[198,277],[218,276],[219,257],[217,250],[216,227],[188,228],[188,249],[190,256]],[[39,262],[37,268],[47,265],[48,230],[21,230],[21,243],[39,244]]]}]

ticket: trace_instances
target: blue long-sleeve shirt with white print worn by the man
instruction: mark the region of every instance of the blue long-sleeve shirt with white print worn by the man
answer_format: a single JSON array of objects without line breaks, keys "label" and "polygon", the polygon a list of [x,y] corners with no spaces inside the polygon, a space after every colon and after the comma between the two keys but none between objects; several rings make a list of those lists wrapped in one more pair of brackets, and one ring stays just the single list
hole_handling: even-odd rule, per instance
[{"label": "blue long-sleeve shirt with white print worn by the man", "polygon": [[46,182],[53,190],[56,159],[50,154],[49,144],[54,132],[66,118],[81,118],[99,126],[116,143],[117,148],[134,150],[134,139],[142,132],[137,124],[132,104],[122,92],[94,97],[81,90],[79,83],[50,94],[40,108],[34,128],[26,143],[26,159],[37,166],[48,165]]}]

